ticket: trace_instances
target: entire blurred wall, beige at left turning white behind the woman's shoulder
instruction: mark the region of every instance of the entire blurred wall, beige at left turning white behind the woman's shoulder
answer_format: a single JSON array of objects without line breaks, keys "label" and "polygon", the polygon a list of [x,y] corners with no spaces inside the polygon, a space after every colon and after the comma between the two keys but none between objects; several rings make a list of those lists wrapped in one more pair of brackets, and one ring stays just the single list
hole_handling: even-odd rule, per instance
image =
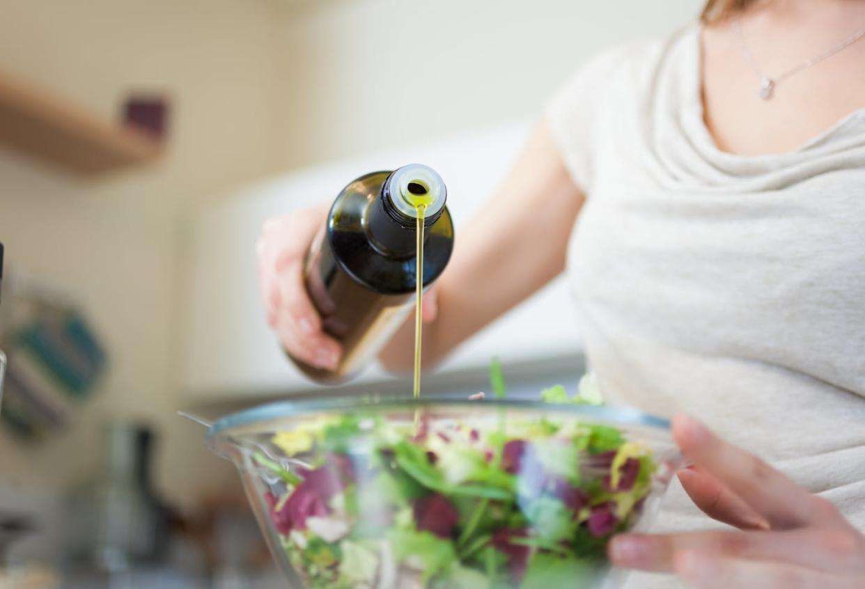
[{"label": "entire blurred wall, beige at left turning white behind the woman's shoulder", "polygon": [[82,181],[0,148],[10,264],[79,298],[112,354],[74,430],[27,451],[0,431],[0,483],[86,474],[106,415],[161,427],[157,483],[173,498],[234,480],[174,414],[192,204],[283,167],[531,116],[587,54],[670,31],[699,4],[0,0],[0,69],[106,117],[137,87],[175,106],[169,152],[147,170]]}]

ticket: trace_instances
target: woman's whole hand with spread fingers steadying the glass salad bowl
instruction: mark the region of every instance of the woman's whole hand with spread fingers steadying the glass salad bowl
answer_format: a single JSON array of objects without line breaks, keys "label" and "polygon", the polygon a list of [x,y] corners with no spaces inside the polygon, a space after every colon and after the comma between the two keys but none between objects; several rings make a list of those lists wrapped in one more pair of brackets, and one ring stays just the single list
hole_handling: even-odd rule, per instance
[{"label": "woman's whole hand with spread fingers steadying the glass salad bowl", "polygon": [[832,503],[687,415],[673,420],[673,436],[693,464],[679,473],[691,499],[739,530],[618,535],[613,564],[700,589],[865,587],[865,536]]}]

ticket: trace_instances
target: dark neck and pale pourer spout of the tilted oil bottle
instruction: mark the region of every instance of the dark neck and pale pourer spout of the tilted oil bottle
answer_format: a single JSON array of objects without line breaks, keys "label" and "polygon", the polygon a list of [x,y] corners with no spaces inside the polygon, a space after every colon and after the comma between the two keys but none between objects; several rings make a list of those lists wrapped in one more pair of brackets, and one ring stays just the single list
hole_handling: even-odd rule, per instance
[{"label": "dark neck and pale pourer spout of the tilted oil bottle", "polygon": [[[413,167],[404,166],[388,176],[381,185],[378,198],[370,203],[368,209],[369,240],[380,253],[392,257],[410,257],[416,253],[417,220],[420,214],[423,214],[424,227],[432,227],[445,211],[444,183],[440,182],[440,178],[438,184],[426,177],[413,182],[412,175],[405,173],[413,171],[408,168]],[[426,169],[426,166],[423,168]],[[438,174],[432,174],[438,178]]]}]

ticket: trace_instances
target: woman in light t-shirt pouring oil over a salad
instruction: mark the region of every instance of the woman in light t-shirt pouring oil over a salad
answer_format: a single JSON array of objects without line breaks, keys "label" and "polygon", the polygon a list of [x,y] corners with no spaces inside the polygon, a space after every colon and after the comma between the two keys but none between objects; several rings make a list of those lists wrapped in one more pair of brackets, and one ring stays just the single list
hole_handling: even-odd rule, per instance
[{"label": "woman in light t-shirt pouring oil over a salad", "polygon": [[[865,586],[863,36],[862,0],[712,0],[699,27],[589,61],[425,301],[435,362],[565,270],[612,400],[718,432],[676,417],[684,492],[663,534],[611,542],[618,566]],[[323,216],[270,221],[259,264],[285,347],[328,367],[300,278]],[[381,360],[409,368],[411,337]],[[738,530],[693,531],[711,527],[696,508]]]}]

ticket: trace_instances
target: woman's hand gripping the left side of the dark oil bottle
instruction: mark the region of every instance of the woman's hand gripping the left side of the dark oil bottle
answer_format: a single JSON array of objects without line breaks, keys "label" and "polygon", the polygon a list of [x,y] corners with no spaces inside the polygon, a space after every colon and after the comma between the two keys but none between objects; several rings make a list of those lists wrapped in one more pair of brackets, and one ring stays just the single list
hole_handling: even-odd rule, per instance
[{"label": "woman's hand gripping the left side of the dark oil bottle", "polygon": [[342,347],[322,330],[304,285],[304,259],[324,225],[327,208],[304,208],[265,221],[256,246],[259,288],[267,323],[293,357],[333,370]]}]

